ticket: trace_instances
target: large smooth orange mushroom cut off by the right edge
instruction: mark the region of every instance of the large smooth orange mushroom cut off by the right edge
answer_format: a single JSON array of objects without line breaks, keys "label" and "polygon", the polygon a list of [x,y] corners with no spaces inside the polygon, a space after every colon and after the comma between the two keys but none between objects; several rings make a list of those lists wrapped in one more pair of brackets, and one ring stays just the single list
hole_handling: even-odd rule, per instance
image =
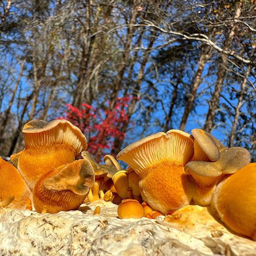
[{"label": "large smooth orange mushroom cut off by the right edge", "polygon": [[256,241],[256,163],[226,177],[214,191],[211,210],[228,228]]}]

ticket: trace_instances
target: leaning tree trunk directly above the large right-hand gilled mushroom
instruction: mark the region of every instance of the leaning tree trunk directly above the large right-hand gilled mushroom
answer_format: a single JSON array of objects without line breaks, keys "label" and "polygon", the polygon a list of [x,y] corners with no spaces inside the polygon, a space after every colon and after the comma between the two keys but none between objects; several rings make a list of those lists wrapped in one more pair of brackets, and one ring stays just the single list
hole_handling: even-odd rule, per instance
[{"label": "leaning tree trunk directly above the large right-hand gilled mushroom", "polygon": [[201,84],[201,76],[202,71],[204,70],[204,66],[210,58],[209,48],[207,46],[202,46],[201,55],[198,62],[198,70],[196,71],[196,76],[194,77],[193,86],[190,89],[190,95],[188,97],[188,102],[186,104],[182,121],[180,122],[180,130],[185,130],[186,121],[188,120],[188,116],[193,108],[194,99],[196,98],[196,92],[198,90],[199,85]]}]

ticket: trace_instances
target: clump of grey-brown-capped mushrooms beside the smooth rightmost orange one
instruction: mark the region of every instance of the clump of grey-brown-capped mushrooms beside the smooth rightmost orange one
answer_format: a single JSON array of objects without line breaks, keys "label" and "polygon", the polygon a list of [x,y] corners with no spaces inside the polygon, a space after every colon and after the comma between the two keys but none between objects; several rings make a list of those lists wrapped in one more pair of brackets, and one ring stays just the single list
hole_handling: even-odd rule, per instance
[{"label": "clump of grey-brown-capped mushrooms beside the smooth rightmost orange one", "polygon": [[[250,162],[250,153],[240,147],[226,148],[208,132],[193,129],[194,156],[185,166],[194,180],[193,201],[209,206],[212,192],[226,174],[233,174]],[[191,183],[193,183],[191,180]]]}]

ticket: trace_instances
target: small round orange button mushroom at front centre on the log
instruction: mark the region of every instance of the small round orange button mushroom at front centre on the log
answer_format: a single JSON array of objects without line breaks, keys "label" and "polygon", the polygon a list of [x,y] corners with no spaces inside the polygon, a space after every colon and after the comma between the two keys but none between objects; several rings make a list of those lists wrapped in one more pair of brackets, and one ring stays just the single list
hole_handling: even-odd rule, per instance
[{"label": "small round orange button mushroom at front centre on the log", "polygon": [[142,218],[143,207],[135,199],[124,199],[118,206],[119,218]]}]

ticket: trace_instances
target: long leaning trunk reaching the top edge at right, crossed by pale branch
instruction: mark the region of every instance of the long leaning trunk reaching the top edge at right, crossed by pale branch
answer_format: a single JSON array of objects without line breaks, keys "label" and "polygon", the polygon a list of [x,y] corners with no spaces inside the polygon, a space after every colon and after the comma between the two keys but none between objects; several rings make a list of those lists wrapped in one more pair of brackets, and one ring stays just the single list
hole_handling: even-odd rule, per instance
[{"label": "long leaning trunk reaching the top edge at right, crossed by pale branch", "polygon": [[[234,15],[234,20],[239,18],[241,15],[241,7],[242,7],[242,1],[238,2],[238,6],[236,7],[236,13]],[[224,44],[224,50],[228,50],[231,46],[231,43],[234,39],[234,29],[236,28],[236,25],[234,24],[231,27],[231,31],[228,34],[228,38],[226,38],[225,44]],[[207,132],[210,132],[214,128],[214,118],[215,114],[220,102],[220,93],[222,91],[222,84],[223,80],[225,78],[226,74],[226,65],[228,63],[228,55],[223,54],[222,55],[222,62],[220,63],[220,66],[218,67],[217,72],[217,81],[214,88],[214,94],[212,95],[212,98],[209,102],[209,110],[206,116],[206,122],[204,123],[204,130]]]}]

